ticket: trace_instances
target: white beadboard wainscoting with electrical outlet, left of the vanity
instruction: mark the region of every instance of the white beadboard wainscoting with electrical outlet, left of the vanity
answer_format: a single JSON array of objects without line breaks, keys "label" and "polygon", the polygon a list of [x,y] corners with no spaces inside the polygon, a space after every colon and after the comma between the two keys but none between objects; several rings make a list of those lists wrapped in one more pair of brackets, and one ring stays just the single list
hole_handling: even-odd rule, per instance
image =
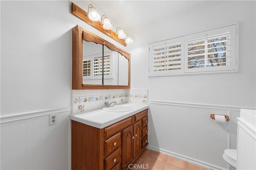
[{"label": "white beadboard wainscoting with electrical outlet, left of the vanity", "polygon": [[38,112],[31,113],[18,120],[4,117],[8,121],[2,121],[0,129],[1,170],[69,169],[71,107],[54,112],[57,113],[55,125],[49,125],[52,110],[44,111],[41,116]]}]

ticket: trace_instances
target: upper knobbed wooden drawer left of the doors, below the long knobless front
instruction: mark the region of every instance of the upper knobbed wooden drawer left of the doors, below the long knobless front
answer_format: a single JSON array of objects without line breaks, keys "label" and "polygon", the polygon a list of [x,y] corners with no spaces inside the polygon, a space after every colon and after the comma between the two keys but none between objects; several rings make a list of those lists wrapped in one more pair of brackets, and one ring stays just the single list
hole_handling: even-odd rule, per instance
[{"label": "upper knobbed wooden drawer left of the doors, below the long knobless front", "polygon": [[121,133],[118,133],[110,139],[104,141],[104,156],[110,154],[121,146]]}]

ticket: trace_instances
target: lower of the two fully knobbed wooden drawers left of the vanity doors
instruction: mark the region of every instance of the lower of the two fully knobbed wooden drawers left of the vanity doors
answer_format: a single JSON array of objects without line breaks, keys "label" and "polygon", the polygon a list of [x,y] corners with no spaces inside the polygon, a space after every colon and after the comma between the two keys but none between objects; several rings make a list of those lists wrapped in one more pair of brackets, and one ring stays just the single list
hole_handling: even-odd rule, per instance
[{"label": "lower of the two fully knobbed wooden drawers left of the vanity doors", "polygon": [[104,170],[111,170],[118,162],[121,162],[120,148],[104,159]]}]

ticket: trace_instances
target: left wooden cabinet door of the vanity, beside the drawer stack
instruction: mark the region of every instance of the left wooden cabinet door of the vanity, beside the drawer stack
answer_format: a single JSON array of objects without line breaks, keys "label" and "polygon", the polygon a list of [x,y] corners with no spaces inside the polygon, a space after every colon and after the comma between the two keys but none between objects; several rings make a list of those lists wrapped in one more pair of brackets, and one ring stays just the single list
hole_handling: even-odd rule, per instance
[{"label": "left wooden cabinet door of the vanity, beside the drawer stack", "polygon": [[122,169],[125,169],[132,161],[132,131],[133,126],[130,125],[122,131]]}]

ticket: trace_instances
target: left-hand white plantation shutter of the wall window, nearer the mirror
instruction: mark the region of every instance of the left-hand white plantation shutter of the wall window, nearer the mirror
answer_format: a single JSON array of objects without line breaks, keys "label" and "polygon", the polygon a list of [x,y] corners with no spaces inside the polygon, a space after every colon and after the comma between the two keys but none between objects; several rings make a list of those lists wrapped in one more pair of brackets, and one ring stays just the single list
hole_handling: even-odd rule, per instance
[{"label": "left-hand white plantation shutter of the wall window, nearer the mirror", "polygon": [[149,75],[180,72],[182,64],[182,41],[180,38],[149,45]]}]

